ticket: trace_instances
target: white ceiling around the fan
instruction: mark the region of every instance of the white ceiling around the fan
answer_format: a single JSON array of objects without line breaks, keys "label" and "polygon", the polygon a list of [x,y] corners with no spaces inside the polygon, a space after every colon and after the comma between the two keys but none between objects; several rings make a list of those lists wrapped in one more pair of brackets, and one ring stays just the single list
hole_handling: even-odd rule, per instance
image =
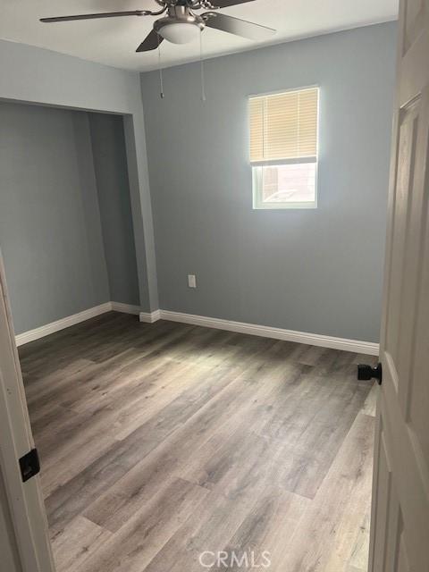
[{"label": "white ceiling around the fan", "polygon": [[[268,42],[254,42],[205,29],[205,56],[231,54],[340,29],[394,20],[399,0],[255,0],[223,13],[278,30]],[[0,38],[136,71],[156,69],[157,52],[136,54],[156,20],[153,16],[44,24],[39,18],[116,10],[153,9],[155,0],[0,0]],[[163,67],[197,60],[199,42],[161,46]]]}]

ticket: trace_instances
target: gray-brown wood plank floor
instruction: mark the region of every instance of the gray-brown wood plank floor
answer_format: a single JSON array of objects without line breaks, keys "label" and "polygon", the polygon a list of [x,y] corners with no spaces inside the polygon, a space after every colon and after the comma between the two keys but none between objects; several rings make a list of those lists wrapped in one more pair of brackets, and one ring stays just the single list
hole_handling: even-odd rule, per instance
[{"label": "gray-brown wood plank floor", "polygon": [[366,571],[374,358],[116,313],[20,357],[58,572]]}]

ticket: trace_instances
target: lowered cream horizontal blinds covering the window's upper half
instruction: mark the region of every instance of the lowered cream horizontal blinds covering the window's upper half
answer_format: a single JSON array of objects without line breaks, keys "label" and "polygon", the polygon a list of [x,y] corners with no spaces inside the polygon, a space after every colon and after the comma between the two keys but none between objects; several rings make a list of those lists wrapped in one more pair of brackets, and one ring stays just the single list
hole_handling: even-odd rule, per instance
[{"label": "lowered cream horizontal blinds covering the window's upper half", "polygon": [[250,97],[250,161],[315,161],[318,99],[318,88]]}]

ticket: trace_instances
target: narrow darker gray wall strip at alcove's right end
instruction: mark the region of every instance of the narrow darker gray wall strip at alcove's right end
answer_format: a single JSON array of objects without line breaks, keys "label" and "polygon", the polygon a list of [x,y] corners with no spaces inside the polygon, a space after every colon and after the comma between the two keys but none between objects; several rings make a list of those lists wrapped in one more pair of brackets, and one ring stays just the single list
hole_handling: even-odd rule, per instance
[{"label": "narrow darker gray wall strip at alcove's right end", "polygon": [[139,279],[122,117],[88,115],[110,299],[138,306]]}]

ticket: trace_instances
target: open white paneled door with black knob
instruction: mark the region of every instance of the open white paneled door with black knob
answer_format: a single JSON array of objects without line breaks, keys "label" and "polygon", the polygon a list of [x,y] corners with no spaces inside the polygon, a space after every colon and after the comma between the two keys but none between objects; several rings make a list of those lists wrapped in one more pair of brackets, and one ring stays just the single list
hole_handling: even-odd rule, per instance
[{"label": "open white paneled door with black knob", "polygon": [[370,572],[429,571],[429,0],[400,0]]}]

